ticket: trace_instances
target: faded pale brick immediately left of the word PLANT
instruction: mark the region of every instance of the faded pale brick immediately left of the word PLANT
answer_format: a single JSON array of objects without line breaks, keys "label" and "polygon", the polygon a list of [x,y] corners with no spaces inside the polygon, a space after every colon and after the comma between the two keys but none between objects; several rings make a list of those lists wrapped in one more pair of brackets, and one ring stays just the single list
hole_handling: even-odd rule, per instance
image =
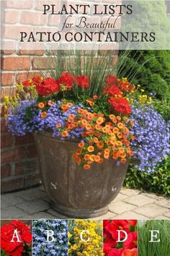
[{"label": "faded pale brick immediately left of the word PLANT", "polygon": [[20,22],[27,25],[46,25],[47,18],[42,12],[22,12]]}]

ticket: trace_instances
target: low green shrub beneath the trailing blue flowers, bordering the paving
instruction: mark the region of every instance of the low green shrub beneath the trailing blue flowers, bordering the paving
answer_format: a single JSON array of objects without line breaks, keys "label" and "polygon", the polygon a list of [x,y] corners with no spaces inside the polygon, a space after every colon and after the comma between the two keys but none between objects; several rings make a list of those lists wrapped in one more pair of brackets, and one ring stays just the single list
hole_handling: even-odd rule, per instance
[{"label": "low green shrub beneath the trailing blue flowers, bordering the paving", "polygon": [[124,186],[130,189],[142,189],[159,195],[170,195],[170,155],[160,163],[156,171],[148,173],[133,168],[130,164]]}]

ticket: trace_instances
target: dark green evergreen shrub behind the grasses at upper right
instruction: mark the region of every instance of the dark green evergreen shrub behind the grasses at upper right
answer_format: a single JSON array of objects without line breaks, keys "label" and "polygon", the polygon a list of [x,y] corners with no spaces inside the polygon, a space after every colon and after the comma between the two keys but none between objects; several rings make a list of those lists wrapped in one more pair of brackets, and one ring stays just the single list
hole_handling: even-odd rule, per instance
[{"label": "dark green evergreen shrub behind the grasses at upper right", "polygon": [[130,82],[156,93],[158,99],[170,100],[170,51],[130,51],[125,65],[129,69],[123,75]]}]

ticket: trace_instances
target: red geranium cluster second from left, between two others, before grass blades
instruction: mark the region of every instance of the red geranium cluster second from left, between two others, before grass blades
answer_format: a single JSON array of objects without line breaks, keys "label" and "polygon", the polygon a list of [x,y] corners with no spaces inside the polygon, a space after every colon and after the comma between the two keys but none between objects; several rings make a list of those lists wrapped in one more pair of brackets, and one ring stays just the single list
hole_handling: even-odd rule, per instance
[{"label": "red geranium cluster second from left, between two others, before grass blades", "polygon": [[60,90],[71,90],[73,87],[73,76],[71,76],[70,73],[64,72],[61,74],[61,77],[59,77],[56,82],[60,86]]}]

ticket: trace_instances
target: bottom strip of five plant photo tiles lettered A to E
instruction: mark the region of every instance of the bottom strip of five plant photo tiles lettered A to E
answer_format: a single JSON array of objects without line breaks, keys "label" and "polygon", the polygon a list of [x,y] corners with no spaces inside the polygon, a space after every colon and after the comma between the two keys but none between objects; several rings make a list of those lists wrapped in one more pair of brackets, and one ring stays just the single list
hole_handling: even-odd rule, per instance
[{"label": "bottom strip of five plant photo tiles lettered A to E", "polygon": [[1,255],[169,256],[168,220],[1,220]]}]

